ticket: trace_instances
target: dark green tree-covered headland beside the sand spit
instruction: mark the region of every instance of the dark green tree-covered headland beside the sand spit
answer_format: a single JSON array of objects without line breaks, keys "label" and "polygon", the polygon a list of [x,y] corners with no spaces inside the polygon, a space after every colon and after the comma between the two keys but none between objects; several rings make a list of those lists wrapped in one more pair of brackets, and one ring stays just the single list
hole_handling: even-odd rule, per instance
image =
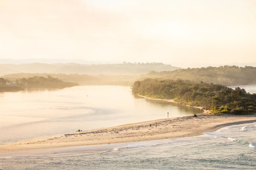
[{"label": "dark green tree-covered headland beside the sand spit", "polygon": [[139,95],[174,99],[175,102],[202,106],[213,113],[255,113],[256,94],[247,93],[244,89],[231,88],[213,83],[190,80],[158,80],[144,79],[135,81],[133,92]]}]

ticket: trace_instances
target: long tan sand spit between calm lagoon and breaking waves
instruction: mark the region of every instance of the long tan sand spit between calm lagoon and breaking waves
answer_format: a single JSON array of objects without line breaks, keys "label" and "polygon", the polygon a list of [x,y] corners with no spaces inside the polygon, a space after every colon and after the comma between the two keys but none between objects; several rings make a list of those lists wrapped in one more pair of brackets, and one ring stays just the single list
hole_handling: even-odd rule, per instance
[{"label": "long tan sand spit between calm lagoon and breaking waves", "polygon": [[[159,119],[115,127],[74,132],[0,145],[0,152],[26,149],[73,147],[180,138],[213,132],[227,125],[256,122],[256,115],[209,115]],[[151,125],[151,126],[150,126]]]}]

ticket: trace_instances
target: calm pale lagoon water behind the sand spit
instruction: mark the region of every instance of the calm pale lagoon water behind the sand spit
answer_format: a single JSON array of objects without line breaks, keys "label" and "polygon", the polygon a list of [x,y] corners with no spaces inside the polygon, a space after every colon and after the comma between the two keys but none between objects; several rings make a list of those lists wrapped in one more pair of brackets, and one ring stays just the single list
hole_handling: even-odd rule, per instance
[{"label": "calm pale lagoon water behind the sand spit", "polygon": [[201,113],[146,100],[130,87],[77,86],[62,90],[0,93],[0,144],[148,120]]}]

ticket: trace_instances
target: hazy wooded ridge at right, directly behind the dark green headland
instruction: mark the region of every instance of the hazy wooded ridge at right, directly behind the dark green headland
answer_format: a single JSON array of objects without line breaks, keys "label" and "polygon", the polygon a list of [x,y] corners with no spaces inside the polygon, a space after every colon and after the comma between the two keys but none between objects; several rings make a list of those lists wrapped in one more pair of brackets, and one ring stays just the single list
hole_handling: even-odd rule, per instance
[{"label": "hazy wooded ridge at right, directly behind the dark green headland", "polygon": [[222,85],[249,85],[256,84],[256,67],[221,66],[207,68],[187,68],[173,71],[151,71],[147,78],[161,79],[188,79],[195,82]]}]

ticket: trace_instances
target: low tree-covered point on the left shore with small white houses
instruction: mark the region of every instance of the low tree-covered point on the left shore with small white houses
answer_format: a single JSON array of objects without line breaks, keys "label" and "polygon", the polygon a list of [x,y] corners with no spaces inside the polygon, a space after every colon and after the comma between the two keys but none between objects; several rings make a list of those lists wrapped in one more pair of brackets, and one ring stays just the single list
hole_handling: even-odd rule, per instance
[{"label": "low tree-covered point on the left shore with small white houses", "polygon": [[61,79],[56,79],[51,76],[45,77],[30,77],[16,80],[8,80],[0,78],[0,91],[21,91],[25,88],[66,88],[78,85],[77,83],[64,82]]}]

